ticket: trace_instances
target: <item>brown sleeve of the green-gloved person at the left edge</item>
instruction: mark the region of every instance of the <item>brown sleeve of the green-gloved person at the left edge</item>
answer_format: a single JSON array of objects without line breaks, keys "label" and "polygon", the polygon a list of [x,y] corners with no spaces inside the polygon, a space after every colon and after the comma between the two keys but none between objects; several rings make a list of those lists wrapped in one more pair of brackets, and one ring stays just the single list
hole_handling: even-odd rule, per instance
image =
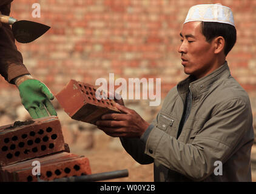
[{"label": "brown sleeve of the green-gloved person at the left edge", "polygon": [[[0,4],[2,14],[9,15],[10,4],[2,5],[3,2],[11,1],[1,1]],[[11,84],[13,84],[12,79],[29,74],[23,64],[22,55],[17,50],[12,29],[8,24],[2,24],[0,27],[0,74]]]}]

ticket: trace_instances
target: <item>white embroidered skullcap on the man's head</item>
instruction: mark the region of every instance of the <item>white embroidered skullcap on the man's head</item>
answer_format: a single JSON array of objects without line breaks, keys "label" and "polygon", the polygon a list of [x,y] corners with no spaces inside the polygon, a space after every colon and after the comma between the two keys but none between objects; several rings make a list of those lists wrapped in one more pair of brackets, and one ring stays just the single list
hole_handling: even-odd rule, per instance
[{"label": "white embroidered skullcap on the man's head", "polygon": [[235,26],[231,8],[221,4],[201,4],[190,7],[184,24],[191,21],[220,22]]}]

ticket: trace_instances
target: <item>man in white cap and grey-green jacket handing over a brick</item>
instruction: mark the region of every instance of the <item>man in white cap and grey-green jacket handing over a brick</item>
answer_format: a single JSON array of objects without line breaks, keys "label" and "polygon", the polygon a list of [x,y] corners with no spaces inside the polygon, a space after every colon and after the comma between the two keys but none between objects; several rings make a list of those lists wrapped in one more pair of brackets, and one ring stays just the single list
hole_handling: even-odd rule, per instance
[{"label": "man in white cap and grey-green jacket handing over a brick", "polygon": [[170,90],[157,118],[149,124],[116,105],[124,113],[104,115],[98,128],[119,136],[140,164],[154,162],[155,181],[251,181],[251,104],[226,61],[236,41],[231,9],[191,7],[180,36],[189,76]]}]

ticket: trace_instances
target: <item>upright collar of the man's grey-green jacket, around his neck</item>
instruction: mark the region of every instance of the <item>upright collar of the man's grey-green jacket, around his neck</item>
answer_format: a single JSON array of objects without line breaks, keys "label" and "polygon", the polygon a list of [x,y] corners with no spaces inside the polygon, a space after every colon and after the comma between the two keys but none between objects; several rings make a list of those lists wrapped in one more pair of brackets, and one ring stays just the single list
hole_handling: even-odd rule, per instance
[{"label": "upright collar of the man's grey-green jacket, around his neck", "polygon": [[190,75],[183,81],[179,82],[177,85],[177,90],[180,95],[189,92],[192,92],[193,96],[198,96],[200,93],[208,90],[215,82],[222,81],[224,78],[227,78],[231,75],[227,61],[221,65],[214,72],[210,73],[207,76],[204,76],[200,79],[195,79],[194,76]]}]

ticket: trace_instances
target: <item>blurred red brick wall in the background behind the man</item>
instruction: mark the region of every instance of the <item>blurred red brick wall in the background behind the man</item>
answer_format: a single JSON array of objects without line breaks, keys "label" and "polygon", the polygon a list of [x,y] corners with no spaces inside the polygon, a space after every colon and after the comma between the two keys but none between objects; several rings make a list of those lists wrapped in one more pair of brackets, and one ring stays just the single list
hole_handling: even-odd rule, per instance
[{"label": "blurred red brick wall in the background behind the man", "polygon": [[[41,18],[32,18],[35,2]],[[234,12],[238,37],[227,61],[256,107],[255,0],[19,0],[11,15],[50,25],[41,38],[17,45],[27,69],[53,93],[70,79],[95,84],[115,73],[115,78],[161,78],[164,98],[187,76],[177,52],[187,11],[216,2]],[[10,87],[3,79],[0,86]]]}]

